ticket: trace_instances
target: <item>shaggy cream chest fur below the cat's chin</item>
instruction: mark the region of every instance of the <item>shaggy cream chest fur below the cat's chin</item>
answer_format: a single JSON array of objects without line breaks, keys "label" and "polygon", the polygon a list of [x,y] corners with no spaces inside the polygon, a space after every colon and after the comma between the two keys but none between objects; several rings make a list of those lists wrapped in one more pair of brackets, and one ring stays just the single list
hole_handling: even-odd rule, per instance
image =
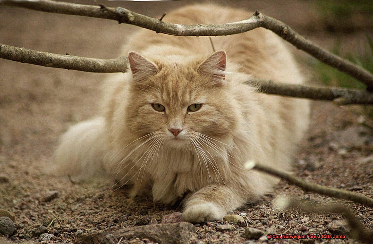
[{"label": "shaggy cream chest fur below the cat's chin", "polygon": [[[211,184],[222,182],[222,166],[227,159],[220,155],[195,154],[189,150],[165,150],[153,160],[150,174],[154,201],[173,203],[188,192],[195,192]],[[224,167],[225,168],[225,167]],[[226,170],[226,169],[225,169]]]}]

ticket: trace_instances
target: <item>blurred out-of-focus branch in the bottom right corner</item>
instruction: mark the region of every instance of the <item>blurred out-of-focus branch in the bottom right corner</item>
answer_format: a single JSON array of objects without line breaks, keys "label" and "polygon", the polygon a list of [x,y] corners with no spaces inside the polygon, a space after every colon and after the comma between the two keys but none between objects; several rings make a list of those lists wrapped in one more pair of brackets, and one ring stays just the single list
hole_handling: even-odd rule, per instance
[{"label": "blurred out-of-focus branch in the bottom right corner", "polygon": [[348,225],[351,228],[349,232],[349,236],[351,238],[358,241],[363,241],[365,243],[373,243],[373,232],[363,228],[351,210],[342,204],[316,205],[312,203],[305,203],[304,201],[299,200],[288,200],[286,207],[294,207],[305,212],[338,213],[347,219]]}]

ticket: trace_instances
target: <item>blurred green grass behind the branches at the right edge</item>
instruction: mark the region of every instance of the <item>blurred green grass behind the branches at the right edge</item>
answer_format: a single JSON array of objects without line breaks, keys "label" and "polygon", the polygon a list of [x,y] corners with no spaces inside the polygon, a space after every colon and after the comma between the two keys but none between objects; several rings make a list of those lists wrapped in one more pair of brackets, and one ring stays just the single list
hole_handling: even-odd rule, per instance
[{"label": "blurred green grass behind the branches at the right edge", "polygon": [[[356,53],[348,53],[342,57],[350,60],[353,63],[363,67],[367,71],[373,73],[373,40],[367,35],[366,40],[363,41],[362,45],[359,45]],[[332,52],[338,56],[341,56],[341,45],[338,41]],[[343,73],[335,68],[326,65],[323,62],[316,61],[314,63],[314,70],[316,71],[318,78],[324,85],[335,85],[345,88],[366,88],[366,85],[361,83],[350,75]]]}]

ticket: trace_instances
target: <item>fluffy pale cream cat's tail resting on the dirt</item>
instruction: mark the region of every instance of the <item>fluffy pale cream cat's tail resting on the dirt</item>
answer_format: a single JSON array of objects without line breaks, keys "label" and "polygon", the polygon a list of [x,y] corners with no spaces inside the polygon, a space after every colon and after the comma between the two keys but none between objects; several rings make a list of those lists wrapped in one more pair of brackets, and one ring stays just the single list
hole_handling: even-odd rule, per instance
[{"label": "fluffy pale cream cat's tail resting on the dirt", "polygon": [[53,165],[47,172],[71,176],[74,181],[84,181],[102,173],[107,143],[105,128],[104,118],[72,126],[62,135]]}]

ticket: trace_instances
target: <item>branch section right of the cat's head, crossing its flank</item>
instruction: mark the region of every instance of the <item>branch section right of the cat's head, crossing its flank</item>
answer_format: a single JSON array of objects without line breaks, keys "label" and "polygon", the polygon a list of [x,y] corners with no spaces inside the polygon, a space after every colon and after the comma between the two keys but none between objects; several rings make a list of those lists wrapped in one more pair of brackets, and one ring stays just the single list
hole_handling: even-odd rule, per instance
[{"label": "branch section right of the cat's head, crossing its flank", "polygon": [[373,93],[368,93],[364,90],[358,89],[316,87],[311,85],[288,84],[265,80],[253,80],[247,81],[246,83],[258,87],[259,91],[268,94],[329,100],[337,105],[373,104]]}]

